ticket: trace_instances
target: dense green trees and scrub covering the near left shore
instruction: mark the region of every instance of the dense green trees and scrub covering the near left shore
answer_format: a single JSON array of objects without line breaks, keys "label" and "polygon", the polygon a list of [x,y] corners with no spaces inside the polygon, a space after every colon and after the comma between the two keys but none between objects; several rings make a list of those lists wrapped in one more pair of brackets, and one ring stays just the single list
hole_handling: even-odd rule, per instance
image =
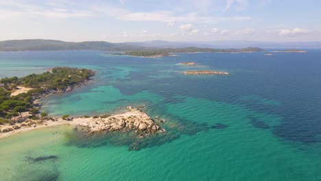
[{"label": "dense green trees and scrub covering the near left shore", "polygon": [[[31,74],[25,77],[5,77],[0,80],[1,84],[4,84],[0,88],[0,118],[16,119],[16,117],[22,117],[22,112],[29,112],[32,114],[30,119],[38,119],[36,114],[39,113],[37,108],[34,108],[33,101],[37,97],[43,94],[49,93],[51,90],[65,91],[69,86],[80,84],[95,73],[88,69],[74,69],[67,67],[56,67],[52,69],[52,72],[45,72],[42,74]],[[25,86],[34,88],[27,91],[27,93],[21,93],[16,96],[11,95],[11,90],[14,90],[16,86]],[[46,117],[47,113],[42,112],[41,117]],[[1,121],[4,123],[4,121]]]}]

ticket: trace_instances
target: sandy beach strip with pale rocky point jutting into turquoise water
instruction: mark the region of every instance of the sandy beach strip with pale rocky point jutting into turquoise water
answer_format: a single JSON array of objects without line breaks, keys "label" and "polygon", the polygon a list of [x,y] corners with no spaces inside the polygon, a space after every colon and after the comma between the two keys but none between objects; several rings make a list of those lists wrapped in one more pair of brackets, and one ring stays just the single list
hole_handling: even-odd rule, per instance
[{"label": "sandy beach strip with pale rocky point jutting into turquoise water", "polygon": [[[40,120],[27,119],[23,122],[16,122],[3,125],[0,128],[0,138],[5,138],[19,132],[27,132],[38,128],[45,128],[53,125],[73,125],[75,130],[82,128],[88,134],[95,132],[128,132],[134,131],[139,138],[166,132],[154,119],[139,108],[127,107],[127,112],[114,115],[82,116],[62,119],[58,117],[46,117]],[[27,116],[26,116],[27,117]],[[161,122],[161,121],[160,121]]]}]

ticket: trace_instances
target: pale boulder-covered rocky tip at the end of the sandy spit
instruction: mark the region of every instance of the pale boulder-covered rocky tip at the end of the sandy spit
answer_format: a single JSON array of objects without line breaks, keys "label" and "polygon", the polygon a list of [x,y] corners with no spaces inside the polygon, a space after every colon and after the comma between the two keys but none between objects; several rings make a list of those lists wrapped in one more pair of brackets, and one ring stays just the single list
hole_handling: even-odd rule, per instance
[{"label": "pale boulder-covered rocky tip at the end of the sandy spit", "polygon": [[142,110],[128,107],[128,112],[109,117],[78,118],[77,125],[87,128],[87,132],[134,130],[136,134],[155,134],[165,132],[160,126]]}]

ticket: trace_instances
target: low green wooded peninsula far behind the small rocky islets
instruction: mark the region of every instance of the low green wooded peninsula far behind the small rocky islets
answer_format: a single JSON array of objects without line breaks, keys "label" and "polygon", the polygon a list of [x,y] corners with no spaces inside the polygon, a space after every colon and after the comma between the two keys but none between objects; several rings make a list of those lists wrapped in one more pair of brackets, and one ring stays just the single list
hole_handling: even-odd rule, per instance
[{"label": "low green wooded peninsula far behind the small rocky islets", "polygon": [[[170,53],[196,53],[196,52],[213,52],[213,53],[238,53],[238,52],[250,52],[250,51],[264,51],[257,47],[247,47],[244,49],[211,49],[211,48],[198,48],[198,47],[186,47],[176,49],[149,49],[149,50],[138,50],[138,51],[127,51],[123,55],[128,56],[169,56]],[[115,53],[119,55],[120,53]]]}]

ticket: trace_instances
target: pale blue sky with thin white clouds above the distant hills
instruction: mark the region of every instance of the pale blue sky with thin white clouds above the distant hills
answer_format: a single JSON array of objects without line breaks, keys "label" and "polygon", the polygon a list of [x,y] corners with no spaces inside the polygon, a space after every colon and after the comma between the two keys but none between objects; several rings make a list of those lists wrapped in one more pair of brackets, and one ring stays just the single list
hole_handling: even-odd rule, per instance
[{"label": "pale blue sky with thin white clouds above the distant hills", "polygon": [[319,0],[0,0],[0,40],[321,40]]}]

